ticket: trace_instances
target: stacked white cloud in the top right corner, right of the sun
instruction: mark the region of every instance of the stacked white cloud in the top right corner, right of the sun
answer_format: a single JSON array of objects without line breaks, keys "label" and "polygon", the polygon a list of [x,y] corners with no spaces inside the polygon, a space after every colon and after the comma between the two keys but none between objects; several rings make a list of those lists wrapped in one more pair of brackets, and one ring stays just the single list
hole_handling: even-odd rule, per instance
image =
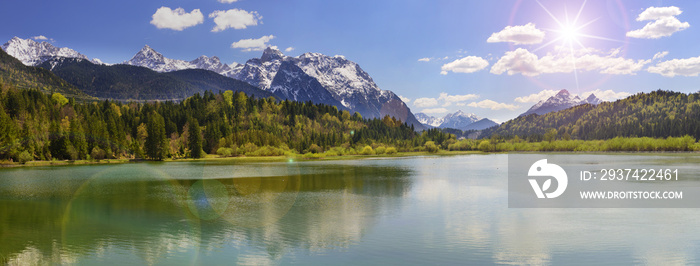
[{"label": "stacked white cloud in the top right corner, right of the sun", "polygon": [[651,20],[651,22],[644,25],[641,29],[627,32],[627,37],[658,39],[671,36],[675,32],[690,27],[688,22],[681,22],[676,18],[681,13],[683,11],[675,6],[647,8],[639,14],[637,21]]}]

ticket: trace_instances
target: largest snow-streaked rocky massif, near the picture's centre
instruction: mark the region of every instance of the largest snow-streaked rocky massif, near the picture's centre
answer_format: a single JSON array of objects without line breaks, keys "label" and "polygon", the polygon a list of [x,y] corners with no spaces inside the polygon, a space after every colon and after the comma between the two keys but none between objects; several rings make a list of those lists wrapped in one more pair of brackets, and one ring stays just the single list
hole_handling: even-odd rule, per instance
[{"label": "largest snow-streaked rocky massif, near the picture's centre", "polygon": [[[296,68],[283,66],[285,63]],[[278,75],[284,75],[284,79],[278,79]],[[290,57],[277,49],[267,48],[260,58],[248,60],[233,77],[271,91],[283,99],[294,99],[293,95],[309,95],[309,92],[313,92],[316,98],[311,100],[314,102],[333,104],[341,109],[359,112],[366,118],[389,115],[413,124],[416,128],[423,127],[396,94],[379,89],[357,63],[342,56],[305,53]],[[307,82],[311,87],[298,86],[296,82],[307,77],[315,79],[333,101],[326,101],[325,96],[322,96],[326,93],[316,85]]]}]

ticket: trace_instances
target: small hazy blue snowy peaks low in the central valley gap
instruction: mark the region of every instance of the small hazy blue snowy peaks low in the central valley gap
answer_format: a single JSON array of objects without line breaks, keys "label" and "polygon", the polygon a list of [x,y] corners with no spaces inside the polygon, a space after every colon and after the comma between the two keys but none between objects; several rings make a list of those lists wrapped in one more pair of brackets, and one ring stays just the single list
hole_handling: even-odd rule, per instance
[{"label": "small hazy blue snowy peaks low in the central valley gap", "polygon": [[444,117],[434,117],[424,113],[417,113],[416,118],[428,128],[454,128],[466,131],[482,130],[498,125],[498,123],[488,118],[479,118],[475,114],[467,114],[462,112],[462,110],[447,114]]}]

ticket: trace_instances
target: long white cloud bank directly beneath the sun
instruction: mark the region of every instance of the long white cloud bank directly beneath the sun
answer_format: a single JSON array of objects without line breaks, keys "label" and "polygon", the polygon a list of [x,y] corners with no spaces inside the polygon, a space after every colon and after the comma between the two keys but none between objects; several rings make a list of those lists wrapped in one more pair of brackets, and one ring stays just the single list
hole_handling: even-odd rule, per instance
[{"label": "long white cloud bank directly beneath the sun", "polygon": [[644,65],[651,60],[625,59],[616,57],[615,50],[608,54],[593,49],[582,49],[570,53],[558,51],[547,53],[542,58],[531,53],[527,49],[518,48],[515,51],[506,52],[498,62],[491,67],[491,73],[508,75],[522,74],[524,76],[537,76],[545,73],[571,73],[574,66],[578,71],[599,71],[603,74],[635,75],[642,70]]}]

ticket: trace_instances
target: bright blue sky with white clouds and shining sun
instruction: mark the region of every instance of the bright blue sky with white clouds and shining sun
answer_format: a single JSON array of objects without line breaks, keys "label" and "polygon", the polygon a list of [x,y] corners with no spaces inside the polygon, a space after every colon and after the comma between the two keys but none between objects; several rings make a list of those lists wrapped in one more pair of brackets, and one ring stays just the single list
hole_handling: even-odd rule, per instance
[{"label": "bright blue sky with white clouds and shining sun", "polygon": [[344,55],[436,116],[505,121],[560,89],[608,100],[700,89],[698,1],[24,0],[5,1],[0,23],[0,42],[45,36],[108,63],[145,44],[225,63],[259,57],[260,44]]}]

